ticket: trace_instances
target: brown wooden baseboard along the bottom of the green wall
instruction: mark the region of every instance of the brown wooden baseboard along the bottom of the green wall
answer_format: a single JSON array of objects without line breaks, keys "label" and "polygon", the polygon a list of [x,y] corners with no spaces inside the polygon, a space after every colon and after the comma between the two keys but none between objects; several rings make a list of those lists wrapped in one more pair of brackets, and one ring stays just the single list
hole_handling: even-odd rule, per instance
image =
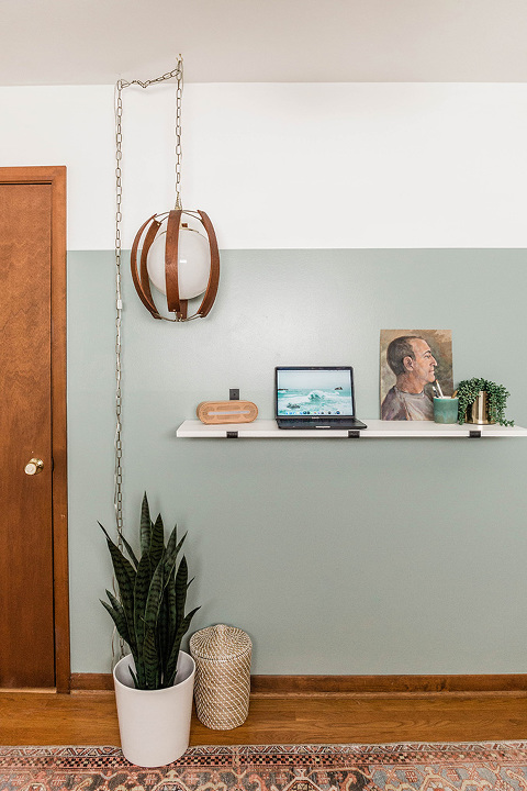
[{"label": "brown wooden baseboard along the bottom of the green wall", "polygon": [[[72,673],[71,692],[112,690],[111,673]],[[463,676],[251,676],[257,697],[527,692],[527,673]]]}]

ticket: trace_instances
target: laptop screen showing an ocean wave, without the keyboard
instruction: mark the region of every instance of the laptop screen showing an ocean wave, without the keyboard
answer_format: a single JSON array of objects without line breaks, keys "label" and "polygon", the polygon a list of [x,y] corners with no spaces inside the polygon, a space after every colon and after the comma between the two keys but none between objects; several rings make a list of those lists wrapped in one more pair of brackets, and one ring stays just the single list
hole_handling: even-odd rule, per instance
[{"label": "laptop screen showing an ocean wave, without the keyboard", "polygon": [[354,417],[349,367],[277,368],[277,417]]}]

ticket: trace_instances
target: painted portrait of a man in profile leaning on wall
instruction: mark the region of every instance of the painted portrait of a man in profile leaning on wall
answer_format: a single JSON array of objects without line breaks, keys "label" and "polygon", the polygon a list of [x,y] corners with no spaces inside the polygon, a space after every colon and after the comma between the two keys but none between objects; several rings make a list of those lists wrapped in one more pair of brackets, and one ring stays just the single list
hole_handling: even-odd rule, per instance
[{"label": "painted portrait of a man in profile leaning on wall", "polygon": [[381,330],[382,420],[434,420],[452,390],[451,330]]}]

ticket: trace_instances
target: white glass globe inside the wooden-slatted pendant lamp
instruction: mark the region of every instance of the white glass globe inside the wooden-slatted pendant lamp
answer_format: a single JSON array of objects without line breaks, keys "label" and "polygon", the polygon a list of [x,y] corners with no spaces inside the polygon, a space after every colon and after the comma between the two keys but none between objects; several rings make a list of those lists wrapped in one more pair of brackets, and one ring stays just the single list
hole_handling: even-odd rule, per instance
[{"label": "white glass globe inside the wooden-slatted pendant lamp", "polygon": [[[165,247],[167,232],[159,232],[154,239],[146,268],[158,291],[166,294]],[[202,294],[209,285],[211,254],[209,241],[199,231],[181,226],[178,238],[178,288],[180,299],[188,300]]]}]

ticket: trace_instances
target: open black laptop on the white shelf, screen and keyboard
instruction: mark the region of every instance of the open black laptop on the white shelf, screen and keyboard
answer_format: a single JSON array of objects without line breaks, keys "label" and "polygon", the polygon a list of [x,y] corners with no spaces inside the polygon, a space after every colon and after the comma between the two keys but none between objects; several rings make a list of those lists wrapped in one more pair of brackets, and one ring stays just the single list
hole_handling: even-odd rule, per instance
[{"label": "open black laptop on the white shelf, screen and keyboard", "polygon": [[274,368],[279,428],[366,428],[355,416],[350,366]]}]

